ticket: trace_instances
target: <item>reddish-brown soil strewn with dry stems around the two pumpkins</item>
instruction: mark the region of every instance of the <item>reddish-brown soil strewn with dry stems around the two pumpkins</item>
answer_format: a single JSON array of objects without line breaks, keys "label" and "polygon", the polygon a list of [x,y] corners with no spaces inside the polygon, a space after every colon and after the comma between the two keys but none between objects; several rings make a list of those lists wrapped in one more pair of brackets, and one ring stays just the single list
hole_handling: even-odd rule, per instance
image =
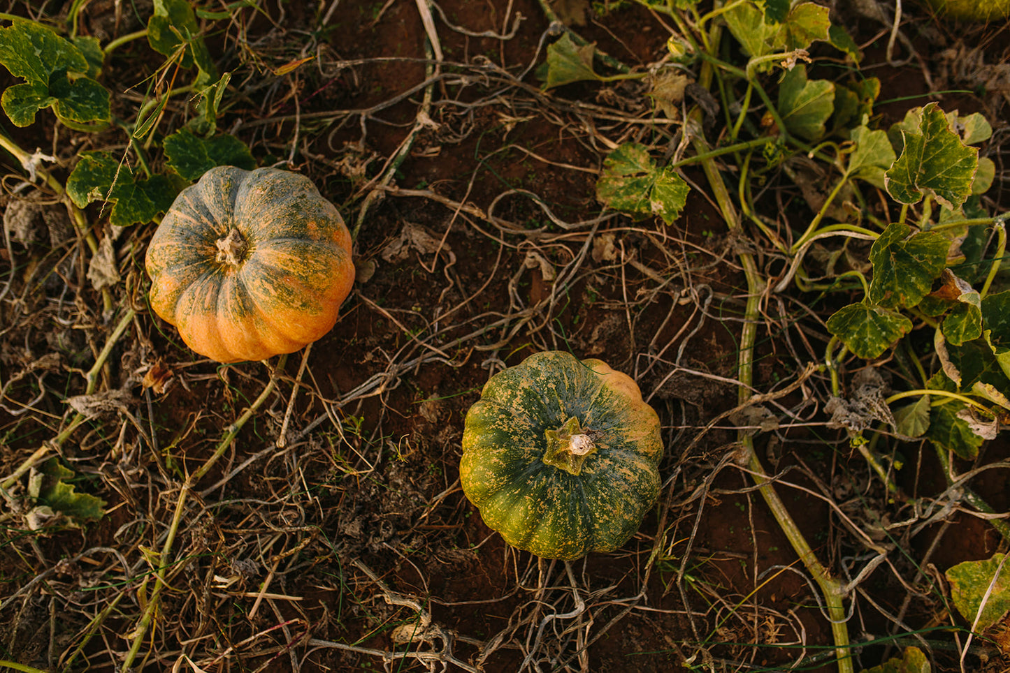
[{"label": "reddish-brown soil strewn with dry stems around the two pumpkins", "polygon": [[[91,3],[82,30],[138,29],[125,9],[118,27],[107,27],[112,4]],[[405,0],[279,4],[243,13],[240,26],[209,37],[222,69],[234,69],[240,92],[219,128],[246,141],[261,165],[293,156],[289,167],[309,175],[357,225],[364,197],[423,104],[420,13]],[[310,40],[314,12],[331,6],[325,28]],[[540,91],[534,71],[549,25],[533,0],[438,6],[444,63],[431,88],[430,123],[360,222],[356,264],[371,274],[360,275],[304,372],[301,353],[275,372],[277,390],[190,494],[171,558],[162,559],[184,570],[169,572],[144,641],[148,654],[134,670],[191,670],[182,655],[208,671],[835,670],[818,593],[733,460],[737,426],[724,420],[701,433],[737,404],[745,284],[734,255],[748,241],[726,233],[705,189],[692,191],[675,227],[597,220],[596,179],[612,146],[604,140],[662,146],[676,129],[635,123],[649,114],[640,83]],[[577,30],[600,49],[638,69],[664,57],[670,33],[659,15],[624,2],[594,7],[603,11]],[[956,44],[952,28],[916,5],[905,11],[913,17],[906,32],[921,53],[937,31],[947,30],[945,39]],[[448,25],[508,32],[519,14],[509,39]],[[889,31],[866,17],[842,20],[866,43],[864,68],[882,78],[882,99],[931,90],[923,73],[934,72],[935,61],[887,65]],[[987,53],[998,61],[1007,30],[985,34]],[[313,60],[272,74],[306,57]],[[131,72],[157,63],[137,42],[106,64],[103,77],[136,81]],[[965,89],[952,76],[944,86]],[[994,104],[979,94],[957,94],[944,107],[992,112],[987,105]],[[880,112],[900,119],[908,105],[890,103]],[[185,115],[183,107],[170,106],[170,117]],[[80,144],[71,147],[52,137],[50,120],[14,137],[25,147],[55,143],[62,166],[72,165],[80,149],[122,142],[109,131],[77,136]],[[18,172],[9,160],[6,169]],[[698,169],[685,176],[705,184]],[[1007,210],[1004,193],[995,198]],[[801,203],[795,190],[761,200],[796,223],[809,218]],[[87,212],[101,221],[97,205]],[[121,661],[154,585],[150,550],[165,542],[186,476],[269,380],[263,363],[200,359],[146,311],[142,251],[154,226],[134,227],[117,243],[125,277],[116,297],[123,304],[130,298],[140,311],[101,376],[103,389],[123,390],[129,400],[90,420],[60,451],[79,475],[79,490],[106,500],[108,515],[44,534],[5,519],[0,623],[9,626],[0,627],[0,658],[75,671],[112,670]],[[16,293],[2,308],[0,381],[34,372],[4,388],[3,475],[66,427],[62,400],[84,391],[80,374],[114,326],[99,295],[76,285],[82,276],[74,265],[83,262],[68,255],[75,242],[54,240],[52,249],[47,241],[14,242],[0,259]],[[60,264],[62,277],[32,275]],[[823,356],[823,330],[797,327],[790,317],[801,307],[789,297],[767,307],[758,390],[781,387]],[[71,312],[73,320],[61,320]],[[571,564],[507,546],[459,480],[463,420],[488,376],[554,349],[599,357],[631,374],[661,416],[667,447],[661,502],[638,534],[613,553]],[[31,369],[47,353],[57,353],[58,363]],[[269,366],[276,365],[274,358]],[[164,391],[141,385],[159,368]],[[41,386],[55,395],[22,415]],[[918,630],[933,645],[936,670],[956,670],[951,633],[929,631],[952,621],[935,570],[986,558],[1005,544],[965,512],[915,535],[902,529],[900,542],[889,543],[882,522],[911,517],[911,498],[945,488],[935,458],[919,445],[903,446],[909,467],[899,482],[909,504],[889,501],[844,434],[824,425],[817,405],[826,400],[827,374],[808,386],[779,404],[810,423],[755,441],[800,530],[833,573],[850,580],[872,557],[850,526],[890,545],[887,562],[845,601],[847,607],[854,598],[856,606],[849,620],[855,670],[895,656],[895,645],[921,647]],[[286,446],[277,448],[282,426]],[[994,442],[986,451],[991,461],[1008,448]],[[10,502],[24,501],[25,481]],[[1010,507],[1006,470],[990,470],[974,486],[997,512]],[[68,644],[81,642],[118,594],[73,665],[61,668]],[[898,640],[889,644],[889,636]],[[979,662],[974,654],[969,659]]]}]

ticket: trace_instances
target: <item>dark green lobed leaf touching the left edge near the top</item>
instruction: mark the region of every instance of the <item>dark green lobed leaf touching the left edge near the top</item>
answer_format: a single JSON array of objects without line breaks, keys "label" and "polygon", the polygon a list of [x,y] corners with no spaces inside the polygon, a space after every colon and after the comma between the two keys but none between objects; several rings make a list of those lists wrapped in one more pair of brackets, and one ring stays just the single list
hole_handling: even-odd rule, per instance
[{"label": "dark green lobed leaf touching the left edge near the top", "polygon": [[23,19],[0,28],[0,64],[25,80],[0,97],[16,126],[27,126],[38,110],[50,106],[61,121],[79,130],[90,130],[80,124],[111,119],[109,92],[87,75],[93,66],[73,42],[49,28]]}]

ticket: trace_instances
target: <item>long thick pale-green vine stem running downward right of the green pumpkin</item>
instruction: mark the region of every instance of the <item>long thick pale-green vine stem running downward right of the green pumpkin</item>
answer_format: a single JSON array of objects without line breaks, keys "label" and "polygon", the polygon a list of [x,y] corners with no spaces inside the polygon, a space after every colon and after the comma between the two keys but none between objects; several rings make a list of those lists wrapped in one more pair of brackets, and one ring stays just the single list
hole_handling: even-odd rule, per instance
[{"label": "long thick pale-green vine stem running downward right of the green pumpkin", "polygon": [[[720,35],[719,26],[713,25],[711,31],[711,43],[718,44]],[[724,68],[724,65],[721,62],[709,57],[708,54],[702,54],[702,58],[708,62],[706,65],[715,65],[720,68]],[[742,74],[739,69],[733,67],[725,68],[725,70],[735,72],[736,74]],[[710,67],[703,67],[699,76],[699,84],[706,87],[709,86],[711,84],[712,76],[712,69]],[[771,105],[771,101],[768,100],[767,94],[764,94],[764,90],[761,89],[760,85],[756,83],[754,83],[754,86],[758,88],[759,93],[763,94],[763,99],[765,99],[766,104],[768,104],[769,110],[774,111],[775,107]],[[698,113],[699,111],[697,109],[692,111],[694,116],[697,116]],[[778,112],[773,112],[773,116],[778,117]],[[777,119],[776,121],[779,123],[779,127],[783,134],[785,134],[785,128],[781,123],[781,119]],[[699,154],[708,150],[704,138],[695,137],[694,145]],[[715,196],[716,203],[719,205],[723,218],[726,220],[726,226],[734,232],[740,230],[741,225],[737,213],[733,208],[723,176],[719,173],[715,161],[712,159],[706,159],[702,162],[702,167],[708,180],[709,187],[712,189]],[[752,389],[753,349],[758,336],[758,324],[761,318],[761,298],[767,288],[758,269],[758,263],[754,260],[753,255],[748,252],[738,252],[737,257],[740,260],[740,265],[743,267],[743,274],[747,283],[747,302],[744,310],[743,324],[740,331],[740,347],[739,354],[737,356],[737,379],[740,382],[738,396],[739,401],[741,403],[745,403],[749,399],[750,390]],[[765,467],[761,464],[761,460],[758,458],[758,454],[753,448],[752,437],[741,431],[738,435],[738,439],[740,442],[743,462],[746,464],[748,472],[750,473],[754,484],[758,486],[762,497],[772,511],[772,515],[775,517],[776,522],[778,522],[782,532],[789,539],[789,543],[792,545],[793,550],[800,557],[800,560],[803,562],[804,566],[806,566],[807,571],[813,576],[814,581],[817,583],[824,596],[824,602],[827,605],[828,619],[831,622],[831,632],[835,645],[835,658],[838,663],[838,673],[852,673],[852,660],[848,653],[848,625],[846,623],[845,609],[842,604],[844,586],[837,579],[831,577],[827,569],[821,565],[817,556],[814,554],[810,545],[800,532],[796,522],[789,514],[789,511],[782,501],[782,498],[779,497],[778,492],[775,490],[774,483],[769,478],[765,471]]]}]

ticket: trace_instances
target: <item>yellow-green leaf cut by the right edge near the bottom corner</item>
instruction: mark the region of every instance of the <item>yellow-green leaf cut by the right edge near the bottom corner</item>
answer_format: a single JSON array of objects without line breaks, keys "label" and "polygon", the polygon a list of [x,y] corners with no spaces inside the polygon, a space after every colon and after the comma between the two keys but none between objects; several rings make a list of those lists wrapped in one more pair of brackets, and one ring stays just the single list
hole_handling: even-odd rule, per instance
[{"label": "yellow-green leaf cut by the right edge near the bottom corner", "polygon": [[944,573],[954,607],[974,625],[977,634],[996,625],[1010,610],[1010,562],[1004,558],[1004,554],[993,554],[982,561],[965,561]]}]

